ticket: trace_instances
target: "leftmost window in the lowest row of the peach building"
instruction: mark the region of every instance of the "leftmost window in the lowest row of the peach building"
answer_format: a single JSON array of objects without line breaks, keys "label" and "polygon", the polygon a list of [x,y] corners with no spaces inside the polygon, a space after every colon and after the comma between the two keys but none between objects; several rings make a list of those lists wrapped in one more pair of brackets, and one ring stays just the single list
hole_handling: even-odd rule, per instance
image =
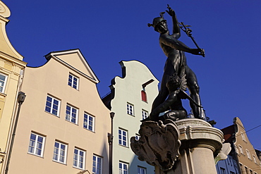
[{"label": "leftmost window in the lowest row of the peach building", "polygon": [[30,135],[28,153],[42,156],[44,151],[44,140],[45,137],[32,132]]}]

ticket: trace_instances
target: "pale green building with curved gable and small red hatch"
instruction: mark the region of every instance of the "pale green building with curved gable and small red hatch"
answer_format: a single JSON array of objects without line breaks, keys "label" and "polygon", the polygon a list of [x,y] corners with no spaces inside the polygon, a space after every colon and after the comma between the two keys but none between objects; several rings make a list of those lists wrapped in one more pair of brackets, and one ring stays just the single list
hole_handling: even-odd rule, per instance
[{"label": "pale green building with curved gable and small red hatch", "polygon": [[122,77],[111,80],[111,93],[103,101],[115,113],[113,121],[113,173],[154,173],[130,149],[130,137],[138,138],[140,120],[147,118],[159,81],[138,61],[121,61]]}]

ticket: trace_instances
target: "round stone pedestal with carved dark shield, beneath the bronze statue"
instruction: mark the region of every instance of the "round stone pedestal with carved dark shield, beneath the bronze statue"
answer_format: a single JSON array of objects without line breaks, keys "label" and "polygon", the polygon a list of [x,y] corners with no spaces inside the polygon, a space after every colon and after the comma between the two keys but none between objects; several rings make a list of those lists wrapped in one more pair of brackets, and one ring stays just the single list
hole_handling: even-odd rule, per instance
[{"label": "round stone pedestal with carved dark shield, beneath the bronze statue", "polygon": [[156,174],[217,174],[214,157],[221,151],[221,130],[195,118],[165,122],[140,125],[140,140],[133,137],[130,144],[139,159],[155,166]]}]

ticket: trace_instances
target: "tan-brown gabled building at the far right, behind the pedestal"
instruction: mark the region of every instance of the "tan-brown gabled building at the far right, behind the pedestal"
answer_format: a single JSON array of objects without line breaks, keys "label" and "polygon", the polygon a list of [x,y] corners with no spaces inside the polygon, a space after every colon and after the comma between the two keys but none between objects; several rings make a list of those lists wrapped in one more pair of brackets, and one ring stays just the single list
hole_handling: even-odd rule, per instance
[{"label": "tan-brown gabled building at the far right, behind the pedestal", "polygon": [[[224,133],[225,142],[231,144],[230,156],[237,162],[238,173],[260,174],[261,161],[248,139],[245,128],[241,120],[236,117],[233,125],[221,130]],[[226,159],[227,161],[228,159]],[[219,161],[220,163],[221,161]],[[228,171],[229,172],[229,171]]]}]

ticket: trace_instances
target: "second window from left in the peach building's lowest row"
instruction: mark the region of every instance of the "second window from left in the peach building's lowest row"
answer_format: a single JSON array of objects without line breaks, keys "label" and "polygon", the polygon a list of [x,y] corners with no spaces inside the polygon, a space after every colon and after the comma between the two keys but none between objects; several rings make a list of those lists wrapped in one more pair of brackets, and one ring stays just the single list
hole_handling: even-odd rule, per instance
[{"label": "second window from left in the peach building's lowest row", "polygon": [[54,156],[53,160],[59,163],[66,163],[67,144],[61,142],[54,143]]}]

